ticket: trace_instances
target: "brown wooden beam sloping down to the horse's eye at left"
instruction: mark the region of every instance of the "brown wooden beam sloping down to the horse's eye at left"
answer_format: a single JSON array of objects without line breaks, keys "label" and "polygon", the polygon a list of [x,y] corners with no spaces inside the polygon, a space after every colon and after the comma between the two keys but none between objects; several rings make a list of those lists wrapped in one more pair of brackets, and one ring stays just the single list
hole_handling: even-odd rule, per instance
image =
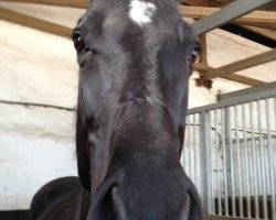
[{"label": "brown wooden beam sloping down to the horse's eye at left", "polygon": [[60,36],[71,37],[72,29],[49,21],[0,8],[0,19],[34,28]]}]

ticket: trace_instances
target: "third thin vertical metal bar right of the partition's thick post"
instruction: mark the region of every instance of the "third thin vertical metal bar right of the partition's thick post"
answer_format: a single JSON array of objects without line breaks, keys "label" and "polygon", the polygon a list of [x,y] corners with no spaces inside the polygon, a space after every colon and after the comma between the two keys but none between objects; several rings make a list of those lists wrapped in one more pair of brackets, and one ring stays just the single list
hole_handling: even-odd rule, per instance
[{"label": "third thin vertical metal bar right of the partition's thick post", "polygon": [[229,114],[229,157],[230,157],[230,183],[231,183],[231,201],[232,201],[232,216],[236,216],[236,202],[235,202],[235,182],[234,182],[234,160],[233,160],[233,144],[232,144],[232,114],[231,108],[227,109]]}]

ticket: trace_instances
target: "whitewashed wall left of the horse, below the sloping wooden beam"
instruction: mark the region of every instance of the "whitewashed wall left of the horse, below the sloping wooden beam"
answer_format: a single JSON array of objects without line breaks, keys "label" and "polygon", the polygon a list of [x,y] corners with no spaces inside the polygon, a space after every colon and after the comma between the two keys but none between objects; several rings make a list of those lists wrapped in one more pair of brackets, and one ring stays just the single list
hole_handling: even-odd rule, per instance
[{"label": "whitewashed wall left of the horse, below the sloping wooden beam", "polygon": [[[0,100],[74,108],[70,40],[0,20]],[[73,111],[0,101],[0,210],[26,209],[51,179],[76,175]]]}]

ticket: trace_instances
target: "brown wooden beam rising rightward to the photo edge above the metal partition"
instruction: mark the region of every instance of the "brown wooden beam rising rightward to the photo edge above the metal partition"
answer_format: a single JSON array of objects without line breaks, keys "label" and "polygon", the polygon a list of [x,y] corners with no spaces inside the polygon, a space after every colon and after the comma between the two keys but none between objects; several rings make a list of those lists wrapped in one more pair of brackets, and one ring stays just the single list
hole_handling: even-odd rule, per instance
[{"label": "brown wooden beam rising rightward to the photo edge above the metal partition", "polygon": [[216,77],[229,76],[235,72],[240,72],[253,66],[265,64],[275,59],[276,59],[276,48],[265,52],[263,54],[258,54],[242,61],[234,62],[232,64],[219,68],[214,68],[206,73],[206,77],[213,79]]}]

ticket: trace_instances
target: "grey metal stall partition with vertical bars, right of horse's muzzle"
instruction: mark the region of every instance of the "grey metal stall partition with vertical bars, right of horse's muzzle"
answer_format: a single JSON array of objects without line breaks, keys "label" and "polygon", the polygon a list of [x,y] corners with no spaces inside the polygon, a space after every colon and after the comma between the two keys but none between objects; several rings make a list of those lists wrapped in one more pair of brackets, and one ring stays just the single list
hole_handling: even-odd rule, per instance
[{"label": "grey metal stall partition with vertical bars, right of horse's muzzle", "polygon": [[276,84],[189,110],[181,160],[210,219],[276,220]]}]

